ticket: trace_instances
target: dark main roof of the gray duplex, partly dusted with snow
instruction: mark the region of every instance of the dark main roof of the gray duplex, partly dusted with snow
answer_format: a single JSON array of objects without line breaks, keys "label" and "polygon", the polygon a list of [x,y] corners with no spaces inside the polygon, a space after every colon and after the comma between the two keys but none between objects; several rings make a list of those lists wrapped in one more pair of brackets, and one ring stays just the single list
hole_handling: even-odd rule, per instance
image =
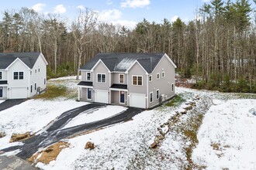
[{"label": "dark main roof of the gray duplex, partly dusted with snow", "polygon": [[99,53],[80,69],[92,70],[95,63],[102,59],[110,71],[126,72],[137,60],[147,73],[152,73],[163,56],[164,53]]}]

